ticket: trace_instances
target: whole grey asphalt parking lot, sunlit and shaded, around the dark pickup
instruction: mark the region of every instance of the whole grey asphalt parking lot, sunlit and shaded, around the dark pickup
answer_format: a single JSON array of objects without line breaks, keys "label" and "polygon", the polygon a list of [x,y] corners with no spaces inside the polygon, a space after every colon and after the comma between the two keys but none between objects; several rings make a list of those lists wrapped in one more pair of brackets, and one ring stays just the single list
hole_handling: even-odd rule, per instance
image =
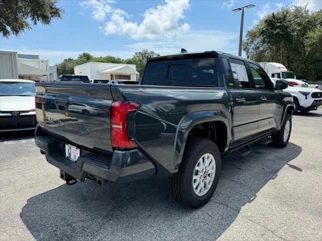
[{"label": "whole grey asphalt parking lot, sunlit and shaded, around the dark pickup", "polygon": [[211,201],[178,204],[167,182],[67,186],[33,133],[0,137],[1,240],[321,240],[322,110],[293,117],[285,149],[228,154]]}]

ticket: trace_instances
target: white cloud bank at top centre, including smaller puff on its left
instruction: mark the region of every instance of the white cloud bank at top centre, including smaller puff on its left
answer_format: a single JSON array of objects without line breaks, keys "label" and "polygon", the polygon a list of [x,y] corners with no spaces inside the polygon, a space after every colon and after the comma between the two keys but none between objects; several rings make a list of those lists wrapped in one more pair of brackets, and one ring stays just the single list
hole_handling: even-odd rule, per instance
[{"label": "white cloud bank at top centre, including smaller puff on its left", "polygon": [[186,33],[190,26],[180,23],[189,9],[189,0],[165,0],[162,4],[145,10],[141,23],[129,21],[129,15],[121,9],[115,9],[110,0],[85,0],[79,2],[83,8],[92,9],[92,18],[107,20],[103,32],[105,35],[118,34],[133,39],[171,38]]}]

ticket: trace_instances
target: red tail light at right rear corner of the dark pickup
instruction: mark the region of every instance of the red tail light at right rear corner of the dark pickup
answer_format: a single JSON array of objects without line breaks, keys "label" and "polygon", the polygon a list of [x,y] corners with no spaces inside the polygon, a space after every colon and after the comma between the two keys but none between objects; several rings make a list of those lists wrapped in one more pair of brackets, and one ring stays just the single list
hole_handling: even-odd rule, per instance
[{"label": "red tail light at right rear corner of the dark pickup", "polygon": [[[129,137],[133,133],[133,113],[139,107],[136,102],[113,101],[111,108],[111,143],[115,148],[136,147]],[[130,122],[130,123],[129,123]],[[133,134],[131,134],[133,135]]]}]

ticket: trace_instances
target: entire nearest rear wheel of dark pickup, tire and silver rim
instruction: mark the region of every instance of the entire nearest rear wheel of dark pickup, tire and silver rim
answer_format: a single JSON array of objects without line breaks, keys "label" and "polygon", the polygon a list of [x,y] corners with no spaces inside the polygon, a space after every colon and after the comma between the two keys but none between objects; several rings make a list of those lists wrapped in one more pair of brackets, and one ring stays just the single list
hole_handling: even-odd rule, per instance
[{"label": "entire nearest rear wheel of dark pickup, tire and silver rim", "polygon": [[206,204],[215,192],[221,169],[216,144],[193,138],[185,148],[178,172],[170,178],[170,189],[180,203],[197,208]]}]

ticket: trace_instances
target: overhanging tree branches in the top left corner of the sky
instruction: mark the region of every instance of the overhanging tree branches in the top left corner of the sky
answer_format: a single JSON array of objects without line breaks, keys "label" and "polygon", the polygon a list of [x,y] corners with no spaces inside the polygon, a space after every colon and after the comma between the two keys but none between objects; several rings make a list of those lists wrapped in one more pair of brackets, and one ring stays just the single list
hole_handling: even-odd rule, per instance
[{"label": "overhanging tree branches in the top left corner of the sky", "polygon": [[62,18],[64,10],[56,0],[0,0],[0,33],[3,37],[19,36],[38,22],[49,25]]}]

